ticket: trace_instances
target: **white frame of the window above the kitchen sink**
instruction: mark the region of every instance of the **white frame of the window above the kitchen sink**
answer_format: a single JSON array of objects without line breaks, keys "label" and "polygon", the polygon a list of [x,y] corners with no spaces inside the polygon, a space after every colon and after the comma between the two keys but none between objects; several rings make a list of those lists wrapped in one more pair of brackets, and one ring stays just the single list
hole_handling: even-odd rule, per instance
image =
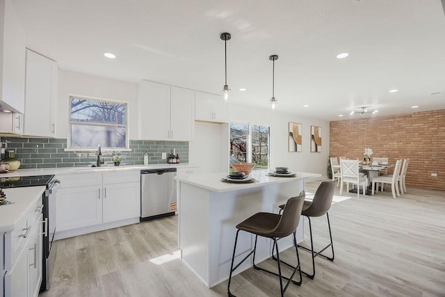
[{"label": "white frame of the window above the kitchen sink", "polygon": [[[71,120],[71,100],[72,99],[85,99],[90,101],[100,101],[100,102],[108,102],[108,103],[117,103],[117,104],[124,104],[125,105],[125,147],[102,147],[102,152],[131,152],[130,149],[130,138],[129,138],[129,103],[119,100],[113,100],[113,99],[104,99],[104,98],[98,98],[98,97],[89,97],[89,96],[83,96],[83,95],[68,95],[68,108],[67,108],[67,114],[68,114],[68,127],[67,127],[67,148],[65,149],[65,152],[91,152],[95,151],[95,147],[71,147],[71,140],[72,140],[72,123],[78,123],[78,122],[72,122]],[[102,123],[102,124],[95,124],[90,123],[92,125],[97,126],[117,126],[113,124],[108,123]],[[119,125],[122,126],[122,125]]]}]

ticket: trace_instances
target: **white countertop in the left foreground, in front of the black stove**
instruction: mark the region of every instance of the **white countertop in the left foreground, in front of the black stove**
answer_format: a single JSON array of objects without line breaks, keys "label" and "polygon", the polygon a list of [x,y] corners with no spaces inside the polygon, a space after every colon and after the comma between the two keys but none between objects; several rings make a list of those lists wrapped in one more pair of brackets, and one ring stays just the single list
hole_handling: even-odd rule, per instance
[{"label": "white countertop in the left foreground, in front of the black stove", "polygon": [[23,188],[3,188],[6,200],[13,204],[0,205],[0,232],[15,230],[22,216],[28,214],[29,207],[35,200],[42,199],[45,186],[25,186]]}]

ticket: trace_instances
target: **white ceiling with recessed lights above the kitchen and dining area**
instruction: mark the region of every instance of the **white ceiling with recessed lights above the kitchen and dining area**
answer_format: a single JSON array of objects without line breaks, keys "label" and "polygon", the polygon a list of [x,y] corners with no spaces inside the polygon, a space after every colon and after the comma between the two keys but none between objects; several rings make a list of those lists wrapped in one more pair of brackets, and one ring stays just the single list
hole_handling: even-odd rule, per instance
[{"label": "white ceiling with recessed lights above the kitchen and dining area", "polygon": [[[61,70],[222,94],[220,33],[228,32],[229,102],[270,108],[273,62],[268,57],[276,54],[277,111],[346,120],[360,117],[350,112],[362,106],[378,109],[376,115],[445,109],[441,0],[13,4],[27,47],[57,61]],[[106,51],[117,58],[105,58]],[[342,52],[349,56],[337,59]]]}]

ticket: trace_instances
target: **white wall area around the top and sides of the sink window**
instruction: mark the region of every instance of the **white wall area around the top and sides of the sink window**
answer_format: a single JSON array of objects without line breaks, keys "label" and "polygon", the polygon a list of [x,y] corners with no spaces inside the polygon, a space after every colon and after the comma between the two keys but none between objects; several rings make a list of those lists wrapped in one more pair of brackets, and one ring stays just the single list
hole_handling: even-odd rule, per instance
[{"label": "white wall area around the top and sides of the sink window", "polygon": [[56,115],[57,138],[67,138],[70,115],[70,95],[80,95],[101,99],[127,102],[129,108],[129,138],[137,138],[137,100],[138,84],[95,77],[88,74],[58,71],[58,102]]}]

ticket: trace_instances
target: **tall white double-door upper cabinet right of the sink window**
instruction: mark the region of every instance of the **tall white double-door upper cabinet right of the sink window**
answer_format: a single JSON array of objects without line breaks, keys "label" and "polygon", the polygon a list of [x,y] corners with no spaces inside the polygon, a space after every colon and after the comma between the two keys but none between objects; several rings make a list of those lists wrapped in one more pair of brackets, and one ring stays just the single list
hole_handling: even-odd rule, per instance
[{"label": "tall white double-door upper cabinet right of the sink window", "polygon": [[142,81],[139,96],[140,139],[191,141],[194,103],[193,90]]}]

